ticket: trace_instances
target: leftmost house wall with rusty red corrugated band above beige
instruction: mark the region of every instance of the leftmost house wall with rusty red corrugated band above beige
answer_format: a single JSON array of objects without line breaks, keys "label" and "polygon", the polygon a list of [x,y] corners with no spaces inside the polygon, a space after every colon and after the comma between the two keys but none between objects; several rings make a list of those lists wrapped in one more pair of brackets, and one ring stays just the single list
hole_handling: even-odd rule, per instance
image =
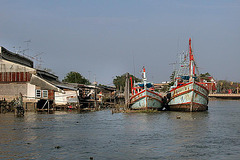
[{"label": "leftmost house wall with rusty red corrugated band above beige", "polygon": [[22,93],[23,101],[32,101],[35,97],[35,87],[29,84],[34,68],[0,59],[0,97],[12,101]]}]

